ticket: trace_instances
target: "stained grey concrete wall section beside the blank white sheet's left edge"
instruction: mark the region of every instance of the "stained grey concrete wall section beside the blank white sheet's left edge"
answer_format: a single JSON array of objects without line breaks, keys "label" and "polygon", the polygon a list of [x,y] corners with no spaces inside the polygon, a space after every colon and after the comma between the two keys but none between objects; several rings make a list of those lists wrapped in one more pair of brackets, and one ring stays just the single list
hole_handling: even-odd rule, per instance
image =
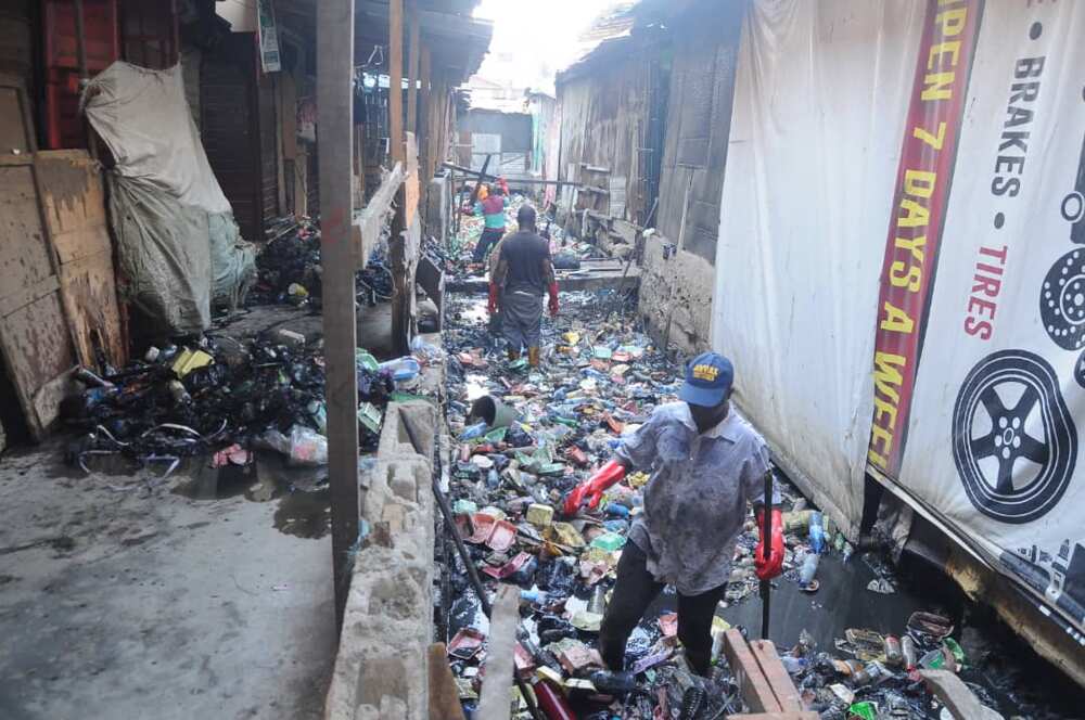
[{"label": "stained grey concrete wall section beside the blank white sheet's left edge", "polygon": [[640,269],[638,312],[659,342],[671,320],[671,343],[686,355],[712,346],[712,296],[716,269],[704,258],[676,250],[664,257],[666,241],[656,235],[644,242]]}]

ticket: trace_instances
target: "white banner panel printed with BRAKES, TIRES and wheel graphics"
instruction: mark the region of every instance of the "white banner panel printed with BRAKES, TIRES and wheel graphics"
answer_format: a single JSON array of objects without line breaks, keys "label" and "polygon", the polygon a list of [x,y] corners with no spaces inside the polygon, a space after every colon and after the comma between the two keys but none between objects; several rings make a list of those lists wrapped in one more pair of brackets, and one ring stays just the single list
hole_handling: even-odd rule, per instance
[{"label": "white banner panel printed with BRAKES, TIRES and wheel graphics", "polygon": [[[948,4],[940,3],[940,12]],[[1085,630],[1085,464],[1077,465],[1085,429],[1080,426],[1085,422],[1082,38],[1082,3],[983,8],[936,280],[926,279],[933,282],[928,305],[908,318],[920,331],[918,353],[915,343],[897,346],[904,351],[884,346],[879,327],[877,351],[905,360],[897,369],[896,360],[876,356],[875,427],[888,428],[895,441],[889,445],[872,429],[869,455],[871,465],[1027,588],[1080,641]],[[902,167],[907,155],[906,150]],[[939,190],[947,189],[935,185],[932,197]],[[929,227],[930,252],[933,210]],[[890,252],[888,246],[886,260]],[[932,270],[923,267],[924,273]],[[883,299],[899,277],[883,272]],[[909,393],[906,378],[917,361]],[[895,370],[905,382],[895,382]],[[892,410],[883,408],[893,393],[899,395],[895,427],[888,420]],[[898,466],[894,458],[902,459]]]}]

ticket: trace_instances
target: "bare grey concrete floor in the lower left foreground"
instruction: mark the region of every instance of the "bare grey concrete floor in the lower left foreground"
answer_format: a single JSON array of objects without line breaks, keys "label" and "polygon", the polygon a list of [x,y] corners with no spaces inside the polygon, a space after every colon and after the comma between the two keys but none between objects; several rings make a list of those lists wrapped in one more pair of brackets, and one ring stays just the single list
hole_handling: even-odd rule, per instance
[{"label": "bare grey concrete floor in the lower left foreground", "polygon": [[329,537],[277,530],[286,498],[192,500],[188,471],[84,476],[61,449],[0,460],[0,718],[319,718]]}]

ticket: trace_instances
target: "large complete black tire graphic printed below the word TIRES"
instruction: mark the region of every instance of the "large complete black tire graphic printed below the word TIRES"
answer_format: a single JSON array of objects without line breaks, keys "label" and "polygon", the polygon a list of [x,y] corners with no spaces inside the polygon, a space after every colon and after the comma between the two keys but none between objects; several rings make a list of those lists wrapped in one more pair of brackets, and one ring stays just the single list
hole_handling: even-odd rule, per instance
[{"label": "large complete black tire graphic printed below the word TIRES", "polygon": [[961,384],[953,454],[972,504],[1004,523],[1031,523],[1058,504],[1077,462],[1077,428],[1055,371],[1038,355],[1000,350]]}]

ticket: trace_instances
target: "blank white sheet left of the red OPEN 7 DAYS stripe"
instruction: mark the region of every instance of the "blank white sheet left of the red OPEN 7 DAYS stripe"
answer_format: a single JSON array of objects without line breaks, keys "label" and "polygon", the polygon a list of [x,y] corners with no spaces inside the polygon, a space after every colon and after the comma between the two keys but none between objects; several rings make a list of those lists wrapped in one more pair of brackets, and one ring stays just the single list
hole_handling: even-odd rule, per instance
[{"label": "blank white sheet left of the red OPEN 7 DAYS stripe", "polygon": [[853,535],[878,268],[923,5],[756,2],[743,27],[713,344],[736,401]]}]

